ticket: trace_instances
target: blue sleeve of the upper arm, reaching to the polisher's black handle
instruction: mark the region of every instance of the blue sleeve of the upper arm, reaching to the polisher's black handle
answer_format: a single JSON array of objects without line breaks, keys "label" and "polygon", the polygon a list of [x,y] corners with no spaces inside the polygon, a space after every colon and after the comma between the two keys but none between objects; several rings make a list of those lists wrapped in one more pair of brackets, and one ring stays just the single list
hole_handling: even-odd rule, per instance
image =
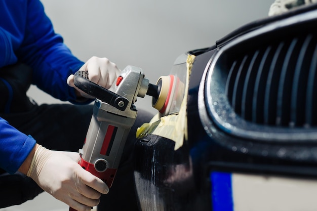
[{"label": "blue sleeve of the upper arm, reaching to the polisher's black handle", "polygon": [[24,40],[17,55],[33,68],[33,84],[39,89],[62,101],[78,104],[74,89],[66,80],[84,62],[73,56],[63,38],[54,32],[38,0],[28,1]]}]

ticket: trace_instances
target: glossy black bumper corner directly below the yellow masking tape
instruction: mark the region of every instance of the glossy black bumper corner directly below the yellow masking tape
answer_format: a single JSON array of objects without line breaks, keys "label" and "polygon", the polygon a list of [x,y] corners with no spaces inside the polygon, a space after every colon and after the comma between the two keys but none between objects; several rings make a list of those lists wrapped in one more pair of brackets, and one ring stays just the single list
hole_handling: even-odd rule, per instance
[{"label": "glossy black bumper corner directly below the yellow masking tape", "polygon": [[135,185],[141,210],[195,210],[201,206],[188,147],[174,151],[174,141],[155,135],[147,136],[148,142],[142,140],[135,148]]}]

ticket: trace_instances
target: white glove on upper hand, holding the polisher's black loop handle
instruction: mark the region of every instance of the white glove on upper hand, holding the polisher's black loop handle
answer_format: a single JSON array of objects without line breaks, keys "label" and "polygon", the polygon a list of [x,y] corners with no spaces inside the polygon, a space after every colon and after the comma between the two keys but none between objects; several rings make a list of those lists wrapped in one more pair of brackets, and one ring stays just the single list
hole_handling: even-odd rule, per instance
[{"label": "white glove on upper hand, holding the polisher's black loop handle", "polygon": [[[121,70],[116,64],[110,62],[107,58],[92,57],[79,70],[88,71],[89,80],[97,83],[99,86],[109,89],[112,83],[120,75]],[[85,98],[92,98],[74,85],[74,75],[69,75],[67,84],[75,88]]]}]

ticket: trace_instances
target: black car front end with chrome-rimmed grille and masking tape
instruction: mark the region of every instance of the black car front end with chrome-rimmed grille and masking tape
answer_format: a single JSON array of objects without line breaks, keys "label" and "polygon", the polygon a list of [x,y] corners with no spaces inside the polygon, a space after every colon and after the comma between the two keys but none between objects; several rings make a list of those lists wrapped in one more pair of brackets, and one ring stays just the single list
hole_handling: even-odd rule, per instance
[{"label": "black car front end with chrome-rimmed grille and masking tape", "polygon": [[176,59],[184,94],[135,146],[141,210],[317,209],[316,25],[314,4]]}]

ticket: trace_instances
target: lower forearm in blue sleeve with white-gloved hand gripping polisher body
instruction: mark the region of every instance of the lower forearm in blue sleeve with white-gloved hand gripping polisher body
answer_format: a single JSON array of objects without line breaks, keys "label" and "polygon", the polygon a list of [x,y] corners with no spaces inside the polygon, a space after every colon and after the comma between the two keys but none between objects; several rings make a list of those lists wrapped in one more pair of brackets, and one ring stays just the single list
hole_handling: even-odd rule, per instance
[{"label": "lower forearm in blue sleeve with white-gloved hand gripping polisher body", "polygon": [[0,117],[0,167],[10,174],[20,171],[43,190],[78,211],[99,203],[107,185],[84,170],[77,152],[46,149]]}]

